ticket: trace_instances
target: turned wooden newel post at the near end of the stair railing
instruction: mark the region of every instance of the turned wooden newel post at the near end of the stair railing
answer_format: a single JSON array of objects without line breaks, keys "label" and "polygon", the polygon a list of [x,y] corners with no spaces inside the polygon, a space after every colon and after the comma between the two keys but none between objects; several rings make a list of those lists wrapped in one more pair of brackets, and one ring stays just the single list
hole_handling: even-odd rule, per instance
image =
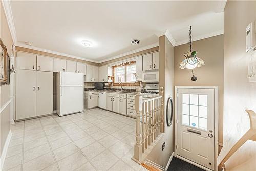
[{"label": "turned wooden newel post at the near end of the stair railing", "polygon": [[136,111],[136,143],[134,145],[134,158],[141,162],[142,160],[142,144],[141,144],[141,130],[140,130],[140,115],[142,110],[142,96],[141,88],[136,88],[135,96],[135,111]]}]

